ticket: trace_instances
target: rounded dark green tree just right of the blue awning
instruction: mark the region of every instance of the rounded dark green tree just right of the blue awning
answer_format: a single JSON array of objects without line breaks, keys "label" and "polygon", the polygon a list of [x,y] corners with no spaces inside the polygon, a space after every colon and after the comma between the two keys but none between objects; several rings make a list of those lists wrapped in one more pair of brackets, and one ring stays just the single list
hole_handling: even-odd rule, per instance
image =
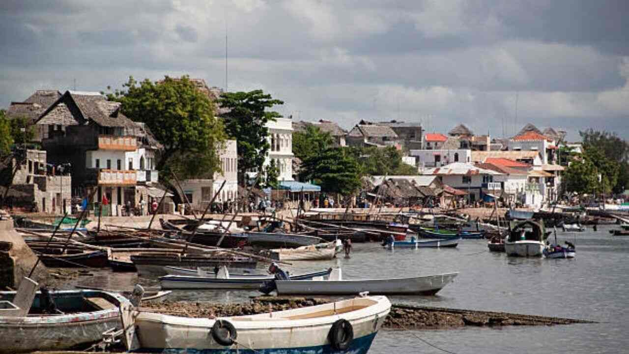
[{"label": "rounded dark green tree just right of the blue awning", "polygon": [[360,187],[360,167],[350,151],[332,147],[306,158],[300,178],[312,180],[325,192],[350,195]]}]

